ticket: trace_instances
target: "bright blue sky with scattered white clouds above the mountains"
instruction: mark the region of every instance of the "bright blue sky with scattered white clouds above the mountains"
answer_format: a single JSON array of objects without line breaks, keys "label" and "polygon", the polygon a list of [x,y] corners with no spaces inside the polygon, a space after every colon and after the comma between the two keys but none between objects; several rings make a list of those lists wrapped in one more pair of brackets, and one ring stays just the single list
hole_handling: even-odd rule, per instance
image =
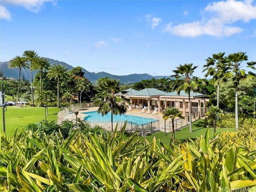
[{"label": "bright blue sky with scattered white clouds above the mountains", "polygon": [[256,1],[0,1],[0,61],[24,50],[116,75],[170,76],[214,53],[256,61]]}]

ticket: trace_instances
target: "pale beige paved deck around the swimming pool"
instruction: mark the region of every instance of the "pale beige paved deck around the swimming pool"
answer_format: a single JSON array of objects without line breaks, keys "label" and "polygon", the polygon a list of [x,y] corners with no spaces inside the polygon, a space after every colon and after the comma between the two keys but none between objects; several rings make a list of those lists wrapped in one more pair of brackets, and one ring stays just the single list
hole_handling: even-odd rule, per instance
[{"label": "pale beige paved deck around the swimming pool", "polygon": [[[86,110],[79,110],[79,113],[78,113],[77,117],[84,119],[84,117],[87,116],[87,114],[83,114],[84,112],[91,112],[91,111],[96,111],[96,110],[98,110],[98,107],[86,108]],[[146,118],[163,120],[162,113],[158,113],[156,115],[152,115],[153,110],[150,111],[151,114],[146,114],[146,112],[141,114],[140,112],[141,112],[141,109],[140,110],[133,109],[132,111],[126,112],[126,114],[128,114],[128,115],[135,115],[135,116],[139,116],[139,117],[146,117]]]}]

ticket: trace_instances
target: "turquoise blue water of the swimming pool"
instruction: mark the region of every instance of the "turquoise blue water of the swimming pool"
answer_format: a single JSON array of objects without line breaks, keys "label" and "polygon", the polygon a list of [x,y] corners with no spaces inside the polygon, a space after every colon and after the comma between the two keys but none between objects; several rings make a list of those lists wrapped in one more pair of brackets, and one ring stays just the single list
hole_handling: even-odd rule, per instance
[{"label": "turquoise blue water of the swimming pool", "polygon": [[[99,122],[108,122],[111,120],[111,113],[108,113],[107,115],[102,116],[102,114],[98,114],[97,111],[92,111],[92,112],[85,112],[84,114],[88,114],[88,116],[86,116],[84,118],[84,120],[87,121],[99,121]],[[134,123],[138,123],[138,124],[146,124],[152,121],[155,121],[156,119],[153,118],[146,118],[146,117],[139,117],[139,116],[134,116],[134,115],[113,115],[113,121],[117,122],[117,121],[130,121],[130,122],[134,122]]]}]

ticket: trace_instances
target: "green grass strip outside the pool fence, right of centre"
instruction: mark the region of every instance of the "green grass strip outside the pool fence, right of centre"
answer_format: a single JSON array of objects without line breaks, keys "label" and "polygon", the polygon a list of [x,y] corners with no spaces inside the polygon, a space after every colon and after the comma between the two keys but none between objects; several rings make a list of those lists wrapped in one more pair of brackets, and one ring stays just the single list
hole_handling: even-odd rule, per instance
[{"label": "green grass strip outside the pool fence, right of centre", "polygon": [[[205,128],[202,124],[203,119],[197,120],[196,122],[192,123],[192,130],[193,132],[189,132],[189,126],[186,126],[178,131],[175,132],[175,138],[179,141],[185,141],[187,138],[195,139],[196,137],[200,137],[201,135],[205,134],[205,131],[207,128]],[[234,132],[236,131],[235,129],[216,129],[216,133],[222,132],[222,131],[231,131]],[[213,129],[210,128],[210,133],[213,134]],[[140,137],[140,140],[143,140],[146,138],[149,142],[152,142],[153,138],[156,137],[156,141],[158,144],[159,140],[160,142],[168,145],[170,143],[170,136],[172,136],[172,133],[164,134],[164,132],[156,132],[154,134],[145,136],[145,137]],[[129,134],[126,134],[126,138],[129,137]]]}]

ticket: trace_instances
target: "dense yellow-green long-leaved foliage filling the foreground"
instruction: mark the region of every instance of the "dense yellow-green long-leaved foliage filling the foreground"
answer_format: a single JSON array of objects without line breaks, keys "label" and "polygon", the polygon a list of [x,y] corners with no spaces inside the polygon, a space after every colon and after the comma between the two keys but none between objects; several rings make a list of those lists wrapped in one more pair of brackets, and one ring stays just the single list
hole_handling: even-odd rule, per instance
[{"label": "dense yellow-green long-leaved foliage filling the foreground", "polygon": [[[124,125],[125,126],[125,125]],[[106,135],[74,130],[0,135],[2,191],[205,191],[256,189],[256,123],[169,146],[124,140],[124,127]]]}]

